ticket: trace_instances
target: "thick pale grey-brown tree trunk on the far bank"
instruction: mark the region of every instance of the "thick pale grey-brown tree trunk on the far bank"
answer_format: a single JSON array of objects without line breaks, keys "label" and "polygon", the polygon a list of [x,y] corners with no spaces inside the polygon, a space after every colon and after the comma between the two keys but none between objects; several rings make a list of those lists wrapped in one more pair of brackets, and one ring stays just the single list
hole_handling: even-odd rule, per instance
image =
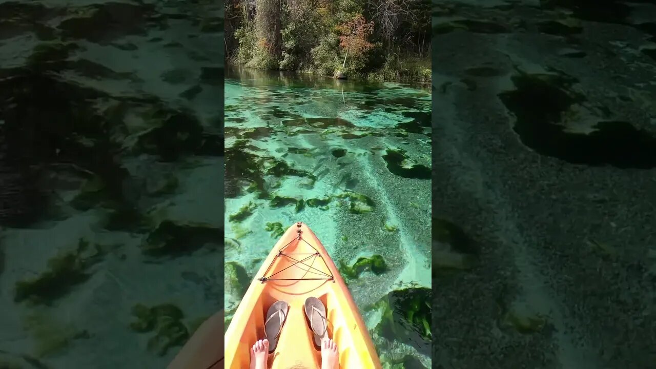
[{"label": "thick pale grey-brown tree trunk on the far bank", "polygon": [[[276,62],[282,54],[281,0],[255,1],[255,34],[265,51]],[[260,44],[261,45],[261,44]]]}]

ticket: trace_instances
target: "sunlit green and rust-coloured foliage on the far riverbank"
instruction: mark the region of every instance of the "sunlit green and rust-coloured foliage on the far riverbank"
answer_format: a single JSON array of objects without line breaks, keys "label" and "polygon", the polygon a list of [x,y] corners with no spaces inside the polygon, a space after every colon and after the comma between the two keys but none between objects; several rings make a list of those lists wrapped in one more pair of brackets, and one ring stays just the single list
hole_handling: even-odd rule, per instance
[{"label": "sunlit green and rust-coloured foliage on the far riverbank", "polygon": [[[377,11],[371,8],[373,4],[369,1],[283,1],[280,60],[274,60],[266,51],[267,41],[256,36],[253,16],[256,10],[253,12],[245,1],[234,3],[239,6],[233,8],[242,11],[240,16],[233,12],[234,16],[228,21],[236,31],[234,39],[226,33],[226,45],[231,49],[230,45],[238,44],[227,53],[232,55],[230,62],[235,64],[324,76],[333,76],[339,70],[350,78],[430,81],[431,5],[428,1],[413,3],[406,9],[409,13],[396,16],[398,27],[385,36],[380,33],[380,24],[373,16]],[[368,29],[371,20],[374,21],[373,32]],[[344,58],[346,65],[342,68]]]}]

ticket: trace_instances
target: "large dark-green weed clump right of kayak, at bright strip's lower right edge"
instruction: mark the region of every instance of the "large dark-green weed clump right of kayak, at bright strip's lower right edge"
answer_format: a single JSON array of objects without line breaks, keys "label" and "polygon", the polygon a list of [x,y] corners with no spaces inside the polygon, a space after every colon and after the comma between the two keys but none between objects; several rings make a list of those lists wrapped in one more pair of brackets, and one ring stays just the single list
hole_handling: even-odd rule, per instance
[{"label": "large dark-green weed clump right of kayak, at bright strip's lower right edge", "polygon": [[374,330],[390,341],[401,341],[430,355],[432,333],[430,288],[394,290],[367,310],[381,314]]}]

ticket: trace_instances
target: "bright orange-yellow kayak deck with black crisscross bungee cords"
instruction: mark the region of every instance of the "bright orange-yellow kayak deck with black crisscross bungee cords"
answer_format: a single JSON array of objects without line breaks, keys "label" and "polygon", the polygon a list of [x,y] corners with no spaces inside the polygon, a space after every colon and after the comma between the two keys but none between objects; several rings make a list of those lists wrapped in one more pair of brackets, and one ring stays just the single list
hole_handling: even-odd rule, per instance
[{"label": "bright orange-yellow kayak deck with black crisscross bungee cords", "polygon": [[[298,232],[300,230],[300,232]],[[381,368],[369,332],[350,292],[315,234],[302,223],[289,227],[256,273],[226,331],[226,368],[249,367],[249,349],[264,339],[268,308],[289,304],[287,319],[269,367],[321,367],[321,351],[304,312],[305,300],[317,297],[326,307],[328,335],[338,345],[340,368]]]}]

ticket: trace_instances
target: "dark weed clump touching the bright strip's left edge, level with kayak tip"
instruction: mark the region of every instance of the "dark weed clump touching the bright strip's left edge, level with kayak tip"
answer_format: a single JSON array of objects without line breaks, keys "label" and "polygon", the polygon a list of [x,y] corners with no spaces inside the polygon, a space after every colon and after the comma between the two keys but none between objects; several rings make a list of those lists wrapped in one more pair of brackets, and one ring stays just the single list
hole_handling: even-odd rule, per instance
[{"label": "dark weed clump touching the bright strip's left edge, level with kayak tip", "polygon": [[192,253],[205,244],[217,244],[223,231],[206,223],[162,221],[140,244],[146,255],[161,257]]}]

